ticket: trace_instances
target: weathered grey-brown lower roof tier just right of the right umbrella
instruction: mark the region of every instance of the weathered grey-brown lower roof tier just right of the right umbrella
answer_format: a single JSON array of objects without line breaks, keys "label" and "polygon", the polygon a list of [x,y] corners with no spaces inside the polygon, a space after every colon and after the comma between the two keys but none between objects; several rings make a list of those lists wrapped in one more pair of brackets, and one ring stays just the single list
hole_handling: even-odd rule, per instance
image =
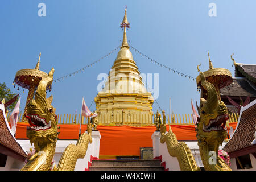
[{"label": "weathered grey-brown lower roof tier just right of the right umbrella", "polygon": [[233,78],[233,86],[220,89],[221,96],[256,97],[256,89],[246,78]]}]

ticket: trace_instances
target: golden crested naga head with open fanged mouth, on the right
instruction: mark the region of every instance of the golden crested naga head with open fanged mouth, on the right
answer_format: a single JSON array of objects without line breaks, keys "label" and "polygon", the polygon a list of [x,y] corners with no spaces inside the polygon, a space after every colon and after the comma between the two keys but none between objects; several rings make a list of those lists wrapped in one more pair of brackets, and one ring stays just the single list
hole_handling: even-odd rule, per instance
[{"label": "golden crested naga head with open fanged mouth, on the right", "polygon": [[207,90],[207,100],[200,99],[200,119],[196,136],[199,144],[206,142],[217,152],[219,145],[228,134],[225,127],[229,119],[228,110],[224,102],[218,99],[214,85],[205,80],[205,75],[201,71],[200,78],[201,85]]}]

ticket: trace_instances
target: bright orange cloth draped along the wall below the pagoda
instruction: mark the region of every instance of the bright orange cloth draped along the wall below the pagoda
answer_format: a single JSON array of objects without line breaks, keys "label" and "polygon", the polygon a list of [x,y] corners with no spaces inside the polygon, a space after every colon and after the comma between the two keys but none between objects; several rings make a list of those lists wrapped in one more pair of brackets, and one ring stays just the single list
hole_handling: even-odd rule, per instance
[{"label": "bright orange cloth draped along the wall below the pagoda", "polygon": [[[236,129],[237,123],[229,123]],[[16,139],[28,139],[26,128],[28,123],[18,123]],[[79,125],[59,125],[59,140],[77,140],[79,138]],[[172,131],[178,140],[197,142],[195,126],[193,125],[171,125]],[[84,133],[87,125],[81,125],[81,133]],[[121,156],[141,156],[141,148],[153,147],[151,135],[155,132],[155,126],[98,126],[100,131],[100,154],[99,159],[117,159]],[[168,131],[168,125],[167,125]],[[228,128],[229,131],[229,128]],[[140,157],[141,159],[141,157]]]}]

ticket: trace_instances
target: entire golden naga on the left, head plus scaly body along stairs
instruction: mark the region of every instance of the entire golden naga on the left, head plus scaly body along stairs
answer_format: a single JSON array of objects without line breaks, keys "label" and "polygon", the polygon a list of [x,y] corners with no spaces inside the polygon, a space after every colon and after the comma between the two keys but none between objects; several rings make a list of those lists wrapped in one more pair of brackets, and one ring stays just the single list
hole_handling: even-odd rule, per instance
[{"label": "entire golden naga on the left, head plus scaly body along stairs", "polygon": [[[52,166],[52,159],[55,153],[57,136],[57,117],[55,108],[51,105],[52,96],[46,98],[46,88],[52,83],[54,69],[52,68],[48,77],[43,78],[38,85],[35,99],[27,105],[27,115],[29,125],[27,127],[27,137],[30,143],[34,143],[35,154],[28,159],[21,171],[48,171]],[[73,171],[77,159],[84,158],[89,143],[92,143],[91,126],[88,123],[88,134],[83,133],[77,140],[77,144],[69,144],[61,156],[59,165],[53,168],[58,171]]]}]

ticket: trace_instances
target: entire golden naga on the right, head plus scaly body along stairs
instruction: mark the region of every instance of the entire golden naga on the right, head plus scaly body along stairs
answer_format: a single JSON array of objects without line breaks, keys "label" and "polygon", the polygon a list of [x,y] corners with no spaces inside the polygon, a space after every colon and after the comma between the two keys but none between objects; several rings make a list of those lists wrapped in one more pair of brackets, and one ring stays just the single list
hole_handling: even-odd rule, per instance
[{"label": "entire golden naga on the right, head plus scaly body along stairs", "polygon": [[[201,160],[207,171],[231,171],[232,169],[218,156],[218,148],[228,135],[225,127],[226,121],[229,119],[228,110],[224,102],[218,99],[213,84],[205,80],[203,72],[200,70],[199,72],[201,85],[207,90],[207,100],[200,99],[200,118],[196,127]],[[166,142],[169,154],[177,157],[181,170],[200,170],[187,144],[178,142],[176,135],[171,130],[170,123],[168,133],[166,133],[165,121],[160,126],[160,131],[160,142]]]}]

